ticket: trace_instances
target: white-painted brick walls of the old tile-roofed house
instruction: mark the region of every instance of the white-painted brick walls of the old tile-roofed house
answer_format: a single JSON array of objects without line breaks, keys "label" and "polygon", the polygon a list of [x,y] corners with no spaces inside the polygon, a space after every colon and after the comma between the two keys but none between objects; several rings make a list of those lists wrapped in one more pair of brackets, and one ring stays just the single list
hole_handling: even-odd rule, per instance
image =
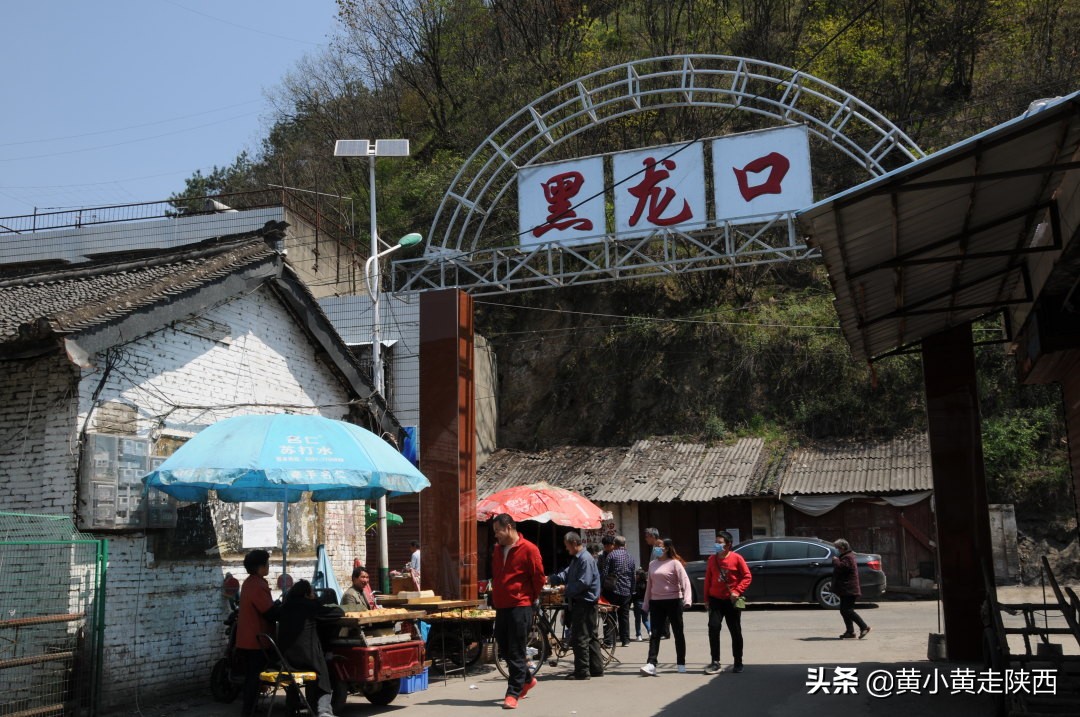
[{"label": "white-painted brick walls of the old tile-roofed house", "polygon": [[[96,406],[135,408],[135,435],[183,437],[234,414],[295,410],[342,418],[348,394],[278,300],[260,289],[94,357],[78,382],[59,356],[12,362],[0,371],[0,510],[72,515],[77,437],[96,425]],[[241,405],[242,404],[242,405]],[[363,558],[361,501],[327,503],[297,528],[325,540],[339,579]],[[215,509],[235,524],[237,506]],[[315,515],[311,512],[309,515]],[[302,513],[301,513],[302,515]],[[291,533],[294,522],[291,520]],[[233,528],[234,529],[234,528]],[[224,525],[221,531],[227,531]],[[153,531],[109,540],[103,704],[202,689],[224,649],[227,572],[245,577],[242,554],[159,560]],[[291,535],[291,539],[292,539]],[[292,543],[292,540],[291,540]],[[280,553],[280,551],[279,551]],[[270,580],[280,572],[280,555]],[[289,562],[310,577],[313,560]]]}]

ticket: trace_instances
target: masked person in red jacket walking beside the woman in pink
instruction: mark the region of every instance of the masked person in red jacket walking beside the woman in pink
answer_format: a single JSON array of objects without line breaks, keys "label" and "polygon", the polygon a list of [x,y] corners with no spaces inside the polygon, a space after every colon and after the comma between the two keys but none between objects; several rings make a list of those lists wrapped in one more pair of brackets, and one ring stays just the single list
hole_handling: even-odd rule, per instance
[{"label": "masked person in red jacket walking beside the woman in pink", "polygon": [[706,675],[720,672],[720,623],[728,623],[731,633],[731,672],[741,673],[742,666],[742,609],[735,603],[750,587],[751,573],[746,560],[731,550],[731,533],[716,532],[716,553],[705,564],[705,598],[708,601],[708,650],[712,662]]}]

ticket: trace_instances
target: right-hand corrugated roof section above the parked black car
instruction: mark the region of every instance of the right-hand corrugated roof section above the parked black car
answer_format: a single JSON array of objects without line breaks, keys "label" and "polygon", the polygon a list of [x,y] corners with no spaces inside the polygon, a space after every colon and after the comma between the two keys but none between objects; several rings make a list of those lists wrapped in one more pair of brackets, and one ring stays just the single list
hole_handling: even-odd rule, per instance
[{"label": "right-hand corrugated roof section above the parked black car", "polygon": [[916,434],[799,447],[780,469],[780,484],[783,495],[931,490],[930,443],[926,434]]}]

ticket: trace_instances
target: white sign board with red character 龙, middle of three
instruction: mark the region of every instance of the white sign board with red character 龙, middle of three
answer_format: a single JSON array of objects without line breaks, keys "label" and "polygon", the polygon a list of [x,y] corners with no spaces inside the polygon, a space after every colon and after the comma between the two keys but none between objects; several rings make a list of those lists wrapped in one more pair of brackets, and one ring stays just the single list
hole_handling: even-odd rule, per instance
[{"label": "white sign board with red character \u9f99, middle of three", "polygon": [[700,141],[620,152],[612,157],[612,170],[620,238],[707,224],[705,153]]}]

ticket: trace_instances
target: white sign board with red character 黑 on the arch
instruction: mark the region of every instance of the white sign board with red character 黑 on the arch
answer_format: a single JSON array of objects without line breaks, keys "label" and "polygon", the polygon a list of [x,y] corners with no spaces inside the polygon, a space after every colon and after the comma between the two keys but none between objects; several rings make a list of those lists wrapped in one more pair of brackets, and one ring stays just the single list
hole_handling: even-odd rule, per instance
[{"label": "white sign board with red character \u9ed1 on the arch", "polygon": [[604,158],[523,167],[517,173],[522,246],[590,244],[604,236]]}]

